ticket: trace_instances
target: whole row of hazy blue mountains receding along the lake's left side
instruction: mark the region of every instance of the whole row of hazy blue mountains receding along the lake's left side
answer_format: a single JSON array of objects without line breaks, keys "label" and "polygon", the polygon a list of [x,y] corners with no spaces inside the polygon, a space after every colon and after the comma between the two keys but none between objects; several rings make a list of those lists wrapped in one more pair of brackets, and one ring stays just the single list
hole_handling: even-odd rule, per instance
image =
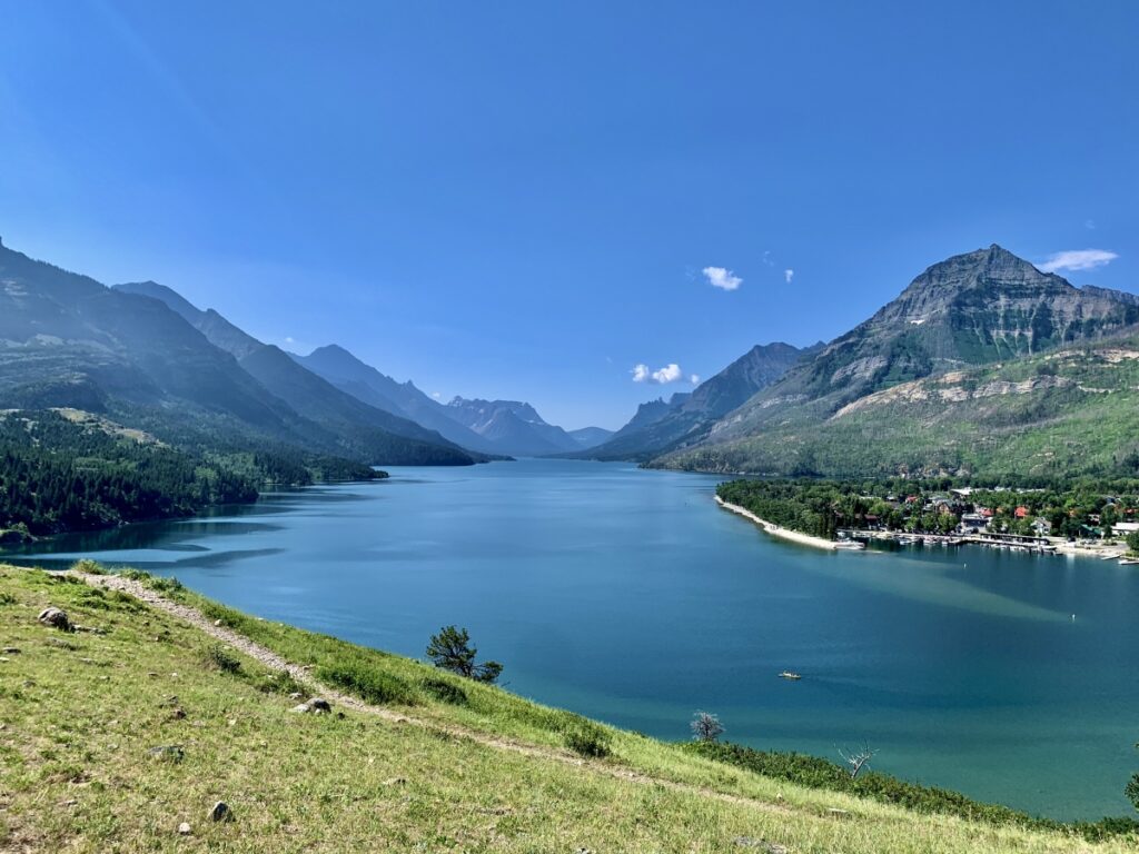
[{"label": "whole row of hazy blue mountains receding along the lake's left side", "polygon": [[[498,403],[498,402],[495,402]],[[0,408],[95,412],[198,449],[293,447],[369,465],[469,465],[577,438],[525,407],[525,441],[483,436],[342,347],[295,356],[153,281],[106,287],[0,241]],[[521,410],[519,410],[521,411]],[[530,433],[552,440],[531,447]]]}]

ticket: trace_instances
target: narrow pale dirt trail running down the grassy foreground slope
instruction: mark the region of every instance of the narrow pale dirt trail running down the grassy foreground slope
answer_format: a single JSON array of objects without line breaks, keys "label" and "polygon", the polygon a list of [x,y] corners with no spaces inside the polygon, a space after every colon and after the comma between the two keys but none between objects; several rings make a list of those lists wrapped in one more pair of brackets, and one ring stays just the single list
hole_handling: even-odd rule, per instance
[{"label": "narrow pale dirt trail running down the grassy foreground slope", "polygon": [[434,730],[436,732],[445,732],[450,736],[466,738],[498,750],[510,750],[511,753],[522,754],[524,756],[534,756],[543,759],[551,759],[554,762],[560,762],[566,765],[574,765],[576,767],[587,769],[595,773],[604,774],[618,780],[628,780],[630,782],[648,786],[661,786],[673,791],[682,791],[691,795],[698,795],[700,797],[715,798],[730,804],[743,804],[768,813],[787,814],[792,812],[789,807],[780,804],[770,804],[764,800],[756,800],[755,798],[748,798],[741,795],[730,795],[728,793],[716,791],[715,789],[708,789],[703,786],[694,786],[691,783],[653,777],[650,774],[611,765],[608,763],[584,759],[575,754],[558,750],[552,747],[530,745],[503,738],[501,736],[491,736],[485,732],[480,732],[478,730],[457,726],[454,724],[444,724],[437,721],[417,718],[412,715],[393,712],[392,709],[384,708],[383,706],[374,706],[357,697],[351,697],[346,693],[337,691],[336,689],[329,688],[328,685],[321,684],[313,679],[312,673],[308,667],[286,660],[268,647],[263,647],[262,644],[249,640],[244,634],[235,632],[232,629],[228,629],[223,625],[216,625],[196,608],[191,608],[187,605],[180,605],[179,602],[167,599],[162,596],[162,593],[151,590],[139,581],[125,578],[121,575],[88,575],[85,573],[76,573],[73,570],[68,570],[67,574],[76,578],[81,578],[91,586],[104,588],[106,590],[117,590],[132,596],[154,608],[166,611],[167,614],[189,623],[196,629],[199,629],[206,634],[216,638],[220,641],[224,641],[238,651],[244,652],[257,662],[261,662],[267,667],[287,672],[297,682],[311,688],[314,696],[319,695],[334,704],[344,706],[345,708],[352,708],[364,714],[375,715],[393,723],[423,726],[424,729]]}]

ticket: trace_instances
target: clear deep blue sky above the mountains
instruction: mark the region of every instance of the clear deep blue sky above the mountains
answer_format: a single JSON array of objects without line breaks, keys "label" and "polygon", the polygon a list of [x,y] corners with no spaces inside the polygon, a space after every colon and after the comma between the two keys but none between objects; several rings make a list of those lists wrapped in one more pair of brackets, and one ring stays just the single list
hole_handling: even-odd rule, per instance
[{"label": "clear deep blue sky above the mountains", "polygon": [[2,11],[7,245],[444,399],[617,427],[991,243],[1139,290],[1123,0]]}]

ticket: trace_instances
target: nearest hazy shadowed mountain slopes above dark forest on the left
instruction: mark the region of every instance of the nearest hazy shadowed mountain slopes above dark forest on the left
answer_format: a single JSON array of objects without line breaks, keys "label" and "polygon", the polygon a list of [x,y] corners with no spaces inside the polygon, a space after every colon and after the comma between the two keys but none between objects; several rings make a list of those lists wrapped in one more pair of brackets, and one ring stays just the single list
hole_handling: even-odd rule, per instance
[{"label": "nearest hazy shadowed mountain slopes above dark forest on the left", "polygon": [[[188,311],[189,304],[172,293],[165,296]],[[220,315],[198,320],[203,328],[206,321],[223,321]],[[228,332],[244,340],[240,330]],[[255,366],[243,366],[163,299],[107,288],[2,243],[0,339],[0,407],[82,409],[200,446],[272,442],[357,462],[473,462],[465,451],[433,442],[413,426],[405,426],[403,435],[387,429],[396,425],[382,413],[360,412],[359,421],[309,418],[255,377]]]}]

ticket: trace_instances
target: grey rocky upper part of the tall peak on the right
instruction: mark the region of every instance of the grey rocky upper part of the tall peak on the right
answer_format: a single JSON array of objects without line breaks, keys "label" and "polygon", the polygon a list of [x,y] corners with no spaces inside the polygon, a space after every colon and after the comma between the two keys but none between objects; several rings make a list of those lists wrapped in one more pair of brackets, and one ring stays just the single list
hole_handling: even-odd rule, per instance
[{"label": "grey rocky upper part of the tall peak on the right", "polygon": [[994,244],[925,270],[712,434],[738,437],[772,420],[825,417],[899,383],[1100,338],[1137,322],[1139,302],[1129,295],[1076,288]]}]

